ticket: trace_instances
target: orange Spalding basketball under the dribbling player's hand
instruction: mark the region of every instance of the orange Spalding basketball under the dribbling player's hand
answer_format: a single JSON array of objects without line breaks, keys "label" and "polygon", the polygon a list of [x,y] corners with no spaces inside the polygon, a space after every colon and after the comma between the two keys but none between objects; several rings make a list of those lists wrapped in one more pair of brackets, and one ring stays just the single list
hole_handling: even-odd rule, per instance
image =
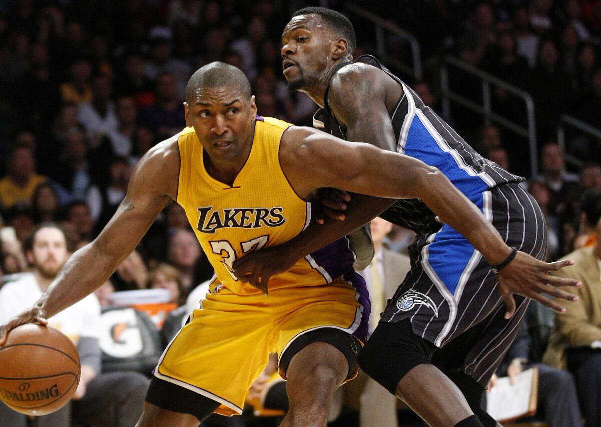
[{"label": "orange Spalding basketball under the dribbling player's hand", "polygon": [[0,347],[0,399],[25,415],[63,407],[75,393],[80,373],[75,345],[50,327],[16,327]]}]

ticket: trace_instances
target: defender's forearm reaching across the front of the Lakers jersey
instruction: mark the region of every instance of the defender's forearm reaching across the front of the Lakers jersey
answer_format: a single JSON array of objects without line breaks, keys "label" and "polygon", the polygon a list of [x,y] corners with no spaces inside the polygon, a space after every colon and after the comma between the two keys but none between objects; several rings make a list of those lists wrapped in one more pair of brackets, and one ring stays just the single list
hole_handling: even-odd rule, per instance
[{"label": "defender's forearm reaching across the front of the Lakers jersey", "polygon": [[311,222],[305,231],[285,243],[285,247],[293,251],[297,258],[302,258],[355,231],[394,202],[393,199],[353,194],[350,201],[346,202],[347,209],[343,221],[328,218],[322,225]]}]

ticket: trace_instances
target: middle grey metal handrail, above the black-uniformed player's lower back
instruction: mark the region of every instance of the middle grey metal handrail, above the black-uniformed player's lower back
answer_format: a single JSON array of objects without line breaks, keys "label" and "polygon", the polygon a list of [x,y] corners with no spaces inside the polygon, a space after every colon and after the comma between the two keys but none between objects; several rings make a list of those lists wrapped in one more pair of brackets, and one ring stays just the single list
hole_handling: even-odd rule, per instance
[{"label": "middle grey metal handrail, above the black-uniformed player's lower back", "polygon": [[[502,126],[513,130],[518,135],[525,136],[528,138],[530,145],[530,168],[532,176],[534,177],[538,172],[538,157],[537,157],[537,137],[536,137],[536,119],[534,114],[534,99],[532,95],[511,83],[505,82],[498,77],[493,76],[486,71],[480,70],[480,68],[474,67],[460,59],[455,58],[451,55],[446,55],[441,68],[441,86],[442,86],[442,112],[444,117],[450,117],[451,104],[450,100],[456,101],[462,104],[466,108],[472,111],[478,112],[484,116],[487,124],[490,124],[491,120],[496,121]],[[468,98],[463,97],[457,92],[451,91],[448,79],[448,65],[453,65],[457,68],[461,68],[463,71],[471,73],[474,76],[480,77],[482,80],[482,95],[483,104],[480,105]],[[506,91],[511,92],[514,95],[522,98],[526,103],[526,112],[528,114],[528,126],[524,127],[519,123],[516,123],[506,117],[502,117],[492,111],[492,102],[490,95],[491,83],[496,86],[501,86]]]}]

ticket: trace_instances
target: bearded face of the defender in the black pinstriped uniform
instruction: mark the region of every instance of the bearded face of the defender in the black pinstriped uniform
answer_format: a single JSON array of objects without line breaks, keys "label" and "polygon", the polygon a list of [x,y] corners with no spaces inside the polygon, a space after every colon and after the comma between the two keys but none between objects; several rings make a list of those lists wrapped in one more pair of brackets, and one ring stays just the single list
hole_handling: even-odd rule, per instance
[{"label": "bearded face of the defender in the black pinstriped uniform", "polygon": [[282,33],[282,67],[288,88],[308,89],[328,71],[331,48],[329,31],[315,14],[297,15]]}]

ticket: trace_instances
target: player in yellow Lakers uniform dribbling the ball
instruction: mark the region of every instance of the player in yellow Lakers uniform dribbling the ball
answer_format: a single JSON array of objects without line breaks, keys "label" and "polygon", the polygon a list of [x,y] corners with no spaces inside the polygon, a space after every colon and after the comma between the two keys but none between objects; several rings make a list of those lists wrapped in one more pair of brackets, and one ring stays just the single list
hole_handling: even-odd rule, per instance
[{"label": "player in yellow Lakers uniform dribbling the ball", "polygon": [[[367,318],[367,307],[361,313],[355,300],[361,299],[353,288],[357,277],[352,270],[341,273],[337,265],[344,265],[344,256],[316,254],[262,283],[266,296],[231,270],[245,253],[294,238],[308,220],[304,202],[320,187],[420,198],[491,264],[511,252],[438,169],[372,145],[258,118],[249,82],[236,67],[205,65],[192,75],[186,94],[186,120],[194,132],[185,130],[145,154],[99,237],[73,254],[31,309],[0,327],[2,345],[19,324],[46,324],[47,316],[93,292],[163,207],[171,199],[181,203],[217,278],[202,308],[163,354],[138,426],[197,426],[216,410],[238,413],[271,351],[278,351],[288,380],[290,411],[282,425],[325,425],[335,389],[356,368],[357,341],[351,335],[360,331],[362,315]],[[554,267],[527,256],[516,261],[515,280],[575,284],[546,276],[564,264]],[[316,336],[314,330],[325,333]]]}]

